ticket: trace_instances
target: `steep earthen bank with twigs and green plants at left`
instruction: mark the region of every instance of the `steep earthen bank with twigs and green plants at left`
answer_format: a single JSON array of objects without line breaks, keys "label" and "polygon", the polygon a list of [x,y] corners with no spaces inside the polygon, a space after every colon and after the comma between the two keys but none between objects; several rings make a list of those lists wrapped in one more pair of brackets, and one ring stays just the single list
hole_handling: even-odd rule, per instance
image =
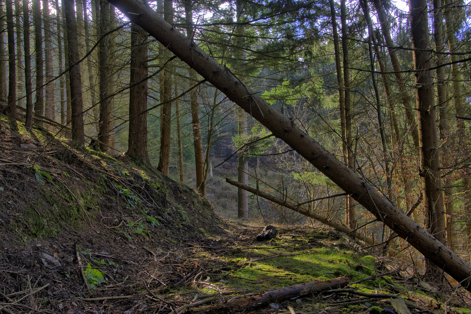
[{"label": "steep earthen bank with twigs and green plants at left", "polygon": [[[140,169],[126,157],[98,157],[53,135],[38,127],[28,132],[22,123],[0,118],[4,295],[44,287],[28,298],[47,297],[49,304],[37,305],[59,310],[71,294],[90,295],[82,277],[101,278],[93,269],[101,271],[105,285],[132,283],[149,260],[181,259],[173,256],[181,243],[225,233],[209,203],[191,188]],[[87,260],[95,261],[89,271]],[[155,284],[179,279],[162,276]],[[104,294],[99,290],[93,296]]]}]

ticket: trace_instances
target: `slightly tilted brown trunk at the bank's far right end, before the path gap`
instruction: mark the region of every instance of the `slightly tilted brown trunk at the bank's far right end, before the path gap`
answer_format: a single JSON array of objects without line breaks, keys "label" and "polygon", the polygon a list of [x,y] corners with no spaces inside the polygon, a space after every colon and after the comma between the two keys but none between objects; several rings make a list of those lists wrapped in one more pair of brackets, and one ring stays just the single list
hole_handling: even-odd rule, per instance
[{"label": "slightly tilted brown trunk at the bank's far right end, before the path gap", "polygon": [[[187,37],[193,38],[193,3],[192,0],[185,0],[185,20],[187,22]],[[190,77],[196,80],[196,71],[190,69]],[[196,172],[196,189],[198,192],[206,196],[206,181],[204,181],[203,173],[203,138],[201,136],[200,124],[200,105],[198,103],[198,88],[191,91],[191,125],[193,127],[193,147],[195,148],[195,172]]]}]

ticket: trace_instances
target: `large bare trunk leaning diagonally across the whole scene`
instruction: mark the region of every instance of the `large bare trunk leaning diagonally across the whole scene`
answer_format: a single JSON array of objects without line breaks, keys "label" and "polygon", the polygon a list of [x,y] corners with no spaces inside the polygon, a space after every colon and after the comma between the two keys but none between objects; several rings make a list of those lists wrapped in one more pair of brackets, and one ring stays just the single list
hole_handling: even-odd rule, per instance
[{"label": "large bare trunk leaning diagonally across the whole scene", "polygon": [[271,107],[260,95],[245,86],[228,68],[206,54],[192,39],[188,39],[168,24],[162,16],[147,5],[146,1],[108,1],[223,92],[231,101],[260,121],[276,137],[295,149],[309,163],[373,213],[378,220],[384,222],[427,259],[471,291],[470,264],[408,218],[365,178],[350,170],[332,153],[295,126],[292,120]]}]

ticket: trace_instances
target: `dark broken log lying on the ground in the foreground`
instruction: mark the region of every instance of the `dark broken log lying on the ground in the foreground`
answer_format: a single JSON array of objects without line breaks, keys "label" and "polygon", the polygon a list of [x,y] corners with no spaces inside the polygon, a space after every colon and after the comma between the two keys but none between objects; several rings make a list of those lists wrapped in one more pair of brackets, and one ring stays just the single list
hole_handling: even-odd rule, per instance
[{"label": "dark broken log lying on the ground in the foreground", "polygon": [[259,297],[243,298],[231,302],[198,307],[188,310],[186,314],[247,312],[255,308],[267,306],[269,303],[282,302],[290,298],[299,298],[308,293],[332,290],[337,287],[345,287],[348,283],[349,279],[347,277],[339,277],[316,283],[301,283],[294,286],[271,290]]}]

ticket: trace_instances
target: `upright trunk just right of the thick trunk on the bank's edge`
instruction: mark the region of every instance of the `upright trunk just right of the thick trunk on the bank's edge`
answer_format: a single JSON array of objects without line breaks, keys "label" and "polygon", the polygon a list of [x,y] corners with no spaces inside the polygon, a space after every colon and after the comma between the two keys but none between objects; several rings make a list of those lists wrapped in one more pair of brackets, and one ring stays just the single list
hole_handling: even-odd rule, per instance
[{"label": "upright trunk just right of the thick trunk on the bank's edge", "polygon": [[[163,0],[163,16],[165,21],[173,24],[173,3],[172,0]],[[172,65],[167,65],[162,71],[161,79],[161,102],[165,102],[162,106],[162,116],[160,118],[160,150],[159,163],[157,170],[165,175],[169,175],[170,163],[170,133],[172,118]]]}]

